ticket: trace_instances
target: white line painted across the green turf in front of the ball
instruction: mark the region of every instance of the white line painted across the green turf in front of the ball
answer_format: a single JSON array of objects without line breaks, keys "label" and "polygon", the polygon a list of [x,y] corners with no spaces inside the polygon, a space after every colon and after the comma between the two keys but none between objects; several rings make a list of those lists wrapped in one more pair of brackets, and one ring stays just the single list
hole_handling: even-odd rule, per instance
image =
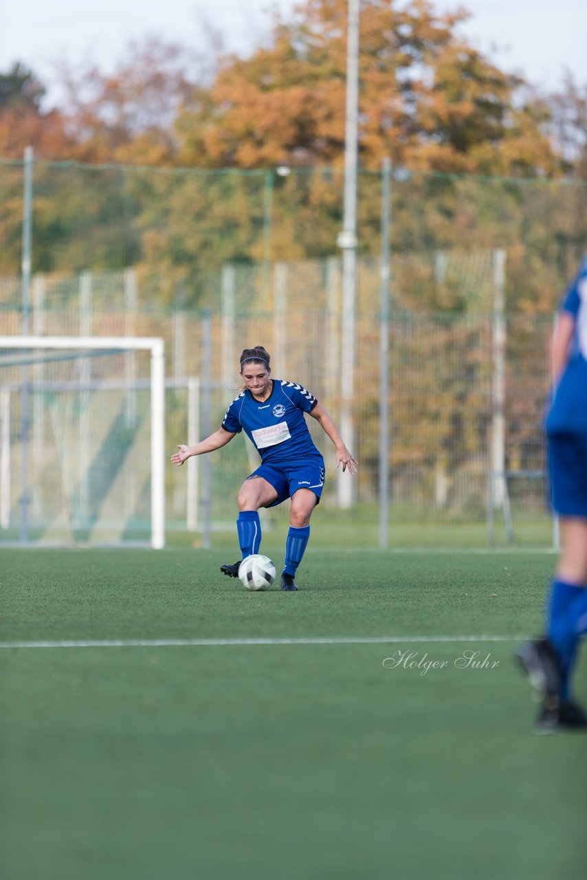
[{"label": "white line painted across the green turf in front of the ball", "polygon": [[370,645],[431,642],[518,642],[525,635],[375,635],[258,639],[95,639],[62,642],[0,642],[0,648],[209,648],[246,645]]}]

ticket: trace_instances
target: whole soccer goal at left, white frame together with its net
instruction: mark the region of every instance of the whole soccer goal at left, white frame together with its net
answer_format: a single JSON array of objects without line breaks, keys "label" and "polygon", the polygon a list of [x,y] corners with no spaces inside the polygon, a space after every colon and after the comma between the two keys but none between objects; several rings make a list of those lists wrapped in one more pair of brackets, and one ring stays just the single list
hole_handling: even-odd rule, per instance
[{"label": "whole soccer goal at left, white frame together with its net", "polygon": [[0,336],[0,544],[165,544],[164,342]]}]

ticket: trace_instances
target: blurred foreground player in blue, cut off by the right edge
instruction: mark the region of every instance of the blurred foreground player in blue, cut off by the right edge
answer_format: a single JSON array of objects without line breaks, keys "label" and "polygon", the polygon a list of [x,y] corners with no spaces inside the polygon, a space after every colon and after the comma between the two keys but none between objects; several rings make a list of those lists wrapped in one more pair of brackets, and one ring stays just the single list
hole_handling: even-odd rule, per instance
[{"label": "blurred foreground player in blue, cut off by the right edge", "polygon": [[587,632],[587,254],[557,316],[551,341],[554,397],[547,415],[553,507],[561,555],[547,599],[546,637],[517,650],[543,705],[538,728],[586,728],[571,698],[580,637]]}]

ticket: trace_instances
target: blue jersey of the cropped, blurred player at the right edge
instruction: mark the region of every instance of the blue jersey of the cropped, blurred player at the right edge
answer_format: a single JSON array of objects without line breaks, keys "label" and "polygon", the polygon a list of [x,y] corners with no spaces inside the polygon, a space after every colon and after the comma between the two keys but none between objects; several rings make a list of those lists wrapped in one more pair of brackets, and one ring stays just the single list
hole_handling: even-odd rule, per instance
[{"label": "blue jersey of the cropped, blurred player at the right edge", "polygon": [[575,320],[569,363],[554,390],[548,434],[587,434],[587,254],[561,303]]}]

